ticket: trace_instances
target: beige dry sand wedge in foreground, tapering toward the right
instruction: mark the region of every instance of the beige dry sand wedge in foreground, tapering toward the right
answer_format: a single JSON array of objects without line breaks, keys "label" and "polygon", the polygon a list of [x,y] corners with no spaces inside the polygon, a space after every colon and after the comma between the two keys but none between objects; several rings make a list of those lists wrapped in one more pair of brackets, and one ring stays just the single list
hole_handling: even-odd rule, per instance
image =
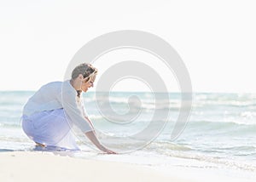
[{"label": "beige dry sand wedge in foreground, tapering toward the right", "polygon": [[42,152],[0,153],[0,179],[9,181],[187,181],[172,173],[121,162],[101,162]]}]

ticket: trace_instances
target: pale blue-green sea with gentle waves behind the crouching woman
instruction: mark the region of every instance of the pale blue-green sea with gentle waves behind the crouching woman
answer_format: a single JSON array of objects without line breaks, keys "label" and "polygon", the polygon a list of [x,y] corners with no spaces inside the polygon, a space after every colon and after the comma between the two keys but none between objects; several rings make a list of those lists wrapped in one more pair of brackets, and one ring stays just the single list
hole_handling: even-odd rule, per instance
[{"label": "pale blue-green sea with gentle waves behind the crouching woman", "polygon": [[[0,151],[34,150],[33,142],[20,127],[22,107],[32,94],[32,91],[0,92]],[[228,175],[232,173],[237,178],[255,177],[256,94],[193,94],[189,122],[175,140],[171,140],[171,134],[180,111],[181,97],[178,93],[171,93],[169,98],[169,102],[163,99],[154,105],[154,94],[119,92],[110,94],[108,105],[106,100],[96,98],[94,93],[84,94],[84,105],[96,130],[110,136],[105,144],[120,151],[125,147],[132,150],[119,155],[103,155],[88,141],[79,138],[82,151],[73,156],[158,168],[212,168],[218,172],[224,170]],[[96,103],[96,100],[99,102]],[[147,128],[156,110],[158,113],[170,112],[165,128],[147,145],[124,145],[122,141],[114,139],[114,136],[118,136],[125,140]],[[119,116],[113,116],[112,111],[119,113]],[[125,119],[135,117],[132,122],[120,124],[109,122],[102,115],[109,115],[110,120],[117,118],[119,122],[124,122],[119,118],[122,116]],[[157,117],[154,119],[156,121],[153,122],[158,122]],[[100,139],[103,141],[104,137]]]}]

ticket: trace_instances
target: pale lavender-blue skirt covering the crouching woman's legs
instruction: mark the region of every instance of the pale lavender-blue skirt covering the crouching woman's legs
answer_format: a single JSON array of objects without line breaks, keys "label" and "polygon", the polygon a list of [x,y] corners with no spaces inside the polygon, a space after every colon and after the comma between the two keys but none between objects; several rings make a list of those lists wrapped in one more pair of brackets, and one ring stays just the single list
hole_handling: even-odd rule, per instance
[{"label": "pale lavender-blue skirt covering the crouching woman's legs", "polygon": [[55,146],[78,150],[63,109],[43,111],[23,117],[26,135],[40,146]]}]

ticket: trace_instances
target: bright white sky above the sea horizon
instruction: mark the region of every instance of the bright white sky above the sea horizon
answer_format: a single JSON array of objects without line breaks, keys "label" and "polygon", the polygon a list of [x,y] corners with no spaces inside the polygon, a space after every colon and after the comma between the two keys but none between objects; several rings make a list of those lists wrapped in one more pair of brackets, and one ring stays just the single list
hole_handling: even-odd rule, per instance
[{"label": "bright white sky above the sea horizon", "polygon": [[[194,92],[255,93],[255,4],[253,0],[0,0],[0,90],[37,90],[47,82],[61,81],[85,43],[111,31],[138,30],[172,45],[189,71]],[[102,73],[109,66],[106,58],[96,64]],[[179,91],[172,73],[163,66],[157,70],[163,72],[170,91]],[[148,89],[138,80],[123,81],[114,87]]]}]

